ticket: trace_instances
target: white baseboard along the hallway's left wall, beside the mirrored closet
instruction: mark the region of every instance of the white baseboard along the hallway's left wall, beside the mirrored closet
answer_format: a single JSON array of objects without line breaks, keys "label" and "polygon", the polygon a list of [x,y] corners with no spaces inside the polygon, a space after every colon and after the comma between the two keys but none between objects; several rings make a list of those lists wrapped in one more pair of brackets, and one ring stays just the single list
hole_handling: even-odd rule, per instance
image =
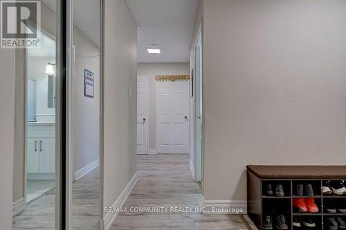
[{"label": "white baseboard along the hallway's left wall, beside the mirrored closet", "polygon": [[[132,189],[134,189],[134,186],[138,182],[138,173],[135,173],[134,176],[131,178],[127,186],[125,186],[125,189],[122,190],[122,193],[119,195],[118,199],[113,203],[111,206],[112,208],[120,208],[124,205],[125,201],[127,200],[127,197],[131,193]],[[109,207],[105,207],[107,209]],[[104,215],[104,229],[108,230],[111,228],[111,224],[116,219],[116,216],[118,213],[116,211],[113,212],[106,212]]]}]

